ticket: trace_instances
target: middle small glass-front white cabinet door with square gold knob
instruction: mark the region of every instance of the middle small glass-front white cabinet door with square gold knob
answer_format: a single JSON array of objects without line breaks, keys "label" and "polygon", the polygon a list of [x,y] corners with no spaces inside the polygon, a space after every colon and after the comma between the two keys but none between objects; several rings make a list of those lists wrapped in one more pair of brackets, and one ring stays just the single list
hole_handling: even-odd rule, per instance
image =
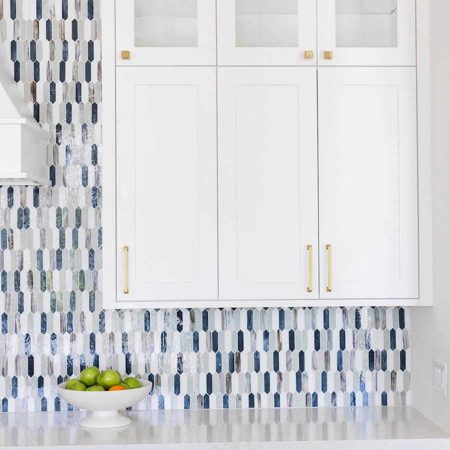
[{"label": "middle small glass-front white cabinet door with square gold knob", "polygon": [[315,65],[315,26],[315,0],[217,0],[217,64]]}]

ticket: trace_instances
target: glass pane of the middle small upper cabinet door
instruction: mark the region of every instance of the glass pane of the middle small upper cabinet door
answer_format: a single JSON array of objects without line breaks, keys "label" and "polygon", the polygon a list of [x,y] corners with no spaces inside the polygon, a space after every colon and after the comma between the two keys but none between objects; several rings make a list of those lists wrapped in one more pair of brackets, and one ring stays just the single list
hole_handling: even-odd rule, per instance
[{"label": "glass pane of the middle small upper cabinet door", "polygon": [[298,46],[298,0],[235,0],[236,47]]}]

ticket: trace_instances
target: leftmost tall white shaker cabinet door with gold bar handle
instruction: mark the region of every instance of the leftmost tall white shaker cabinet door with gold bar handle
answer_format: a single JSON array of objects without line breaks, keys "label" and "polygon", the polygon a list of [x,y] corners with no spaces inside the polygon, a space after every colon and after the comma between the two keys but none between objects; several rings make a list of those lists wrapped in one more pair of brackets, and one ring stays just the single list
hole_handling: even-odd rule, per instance
[{"label": "leftmost tall white shaker cabinet door with gold bar handle", "polygon": [[217,299],[215,67],[118,67],[116,90],[117,301]]}]

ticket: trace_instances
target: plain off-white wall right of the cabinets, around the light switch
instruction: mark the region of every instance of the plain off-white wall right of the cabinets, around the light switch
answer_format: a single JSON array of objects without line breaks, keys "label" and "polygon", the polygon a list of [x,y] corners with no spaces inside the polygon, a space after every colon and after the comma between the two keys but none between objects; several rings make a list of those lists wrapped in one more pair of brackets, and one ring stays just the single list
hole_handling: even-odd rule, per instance
[{"label": "plain off-white wall right of the cabinets, around the light switch", "polygon": [[445,397],[433,389],[432,361],[450,370],[449,21],[450,1],[430,1],[434,306],[411,308],[412,406],[448,433],[450,393]]}]

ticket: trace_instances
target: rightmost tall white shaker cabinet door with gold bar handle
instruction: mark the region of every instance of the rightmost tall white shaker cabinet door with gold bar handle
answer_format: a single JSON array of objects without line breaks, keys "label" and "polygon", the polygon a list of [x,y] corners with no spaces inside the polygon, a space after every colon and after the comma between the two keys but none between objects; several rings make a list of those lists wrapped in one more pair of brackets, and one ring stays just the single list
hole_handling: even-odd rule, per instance
[{"label": "rightmost tall white shaker cabinet door with gold bar handle", "polygon": [[319,67],[320,298],[417,298],[414,67]]}]

